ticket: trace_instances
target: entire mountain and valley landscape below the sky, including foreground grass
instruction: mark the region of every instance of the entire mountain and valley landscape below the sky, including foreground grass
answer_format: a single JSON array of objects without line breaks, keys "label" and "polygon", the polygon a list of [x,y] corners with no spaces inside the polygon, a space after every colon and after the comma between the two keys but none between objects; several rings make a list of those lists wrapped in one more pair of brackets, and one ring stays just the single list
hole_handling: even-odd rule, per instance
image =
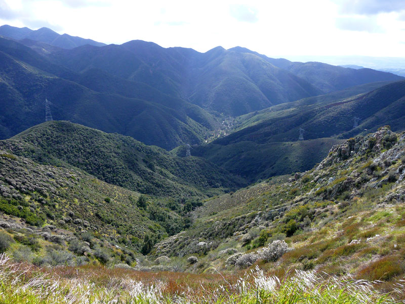
[{"label": "entire mountain and valley landscape below the sky, including foreground grass", "polygon": [[0,35],[0,302],[405,299],[403,77]]}]

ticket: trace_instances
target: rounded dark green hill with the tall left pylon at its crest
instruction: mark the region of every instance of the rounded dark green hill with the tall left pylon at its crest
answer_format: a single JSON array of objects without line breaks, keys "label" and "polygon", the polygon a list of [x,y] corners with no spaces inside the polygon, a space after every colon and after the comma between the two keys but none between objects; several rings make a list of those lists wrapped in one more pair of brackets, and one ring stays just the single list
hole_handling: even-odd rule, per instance
[{"label": "rounded dark green hill with the tall left pylon at its crest", "polygon": [[204,196],[244,184],[197,157],[178,158],[131,137],[52,121],[32,127],[0,146],[48,165],[73,166],[111,184],[156,196]]}]

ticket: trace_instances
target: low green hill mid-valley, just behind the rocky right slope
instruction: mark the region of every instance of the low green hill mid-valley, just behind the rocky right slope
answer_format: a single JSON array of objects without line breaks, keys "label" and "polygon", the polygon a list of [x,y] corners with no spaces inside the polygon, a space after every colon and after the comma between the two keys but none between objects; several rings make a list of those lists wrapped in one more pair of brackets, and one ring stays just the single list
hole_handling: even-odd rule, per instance
[{"label": "low green hill mid-valley, just behind the rocky right slope", "polygon": [[252,140],[227,145],[214,141],[207,146],[195,147],[193,154],[255,182],[275,175],[309,170],[340,142],[342,140],[334,138],[268,143]]}]

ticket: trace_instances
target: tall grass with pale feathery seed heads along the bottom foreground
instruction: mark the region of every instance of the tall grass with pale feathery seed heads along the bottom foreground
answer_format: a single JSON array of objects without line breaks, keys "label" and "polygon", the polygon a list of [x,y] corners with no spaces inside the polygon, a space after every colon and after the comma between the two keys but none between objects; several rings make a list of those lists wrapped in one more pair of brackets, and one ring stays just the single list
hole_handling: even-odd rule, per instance
[{"label": "tall grass with pale feathery seed heads along the bottom foreground", "polygon": [[[102,272],[103,269],[100,269]],[[204,292],[188,285],[187,275],[179,289],[173,281],[139,281],[131,276],[112,276],[103,284],[93,275],[62,277],[55,273],[13,262],[0,256],[0,303],[401,303],[393,297],[402,294],[397,284],[394,293],[383,294],[368,281],[338,279],[297,271],[279,280],[267,277],[258,268],[229,282],[201,282]],[[78,272],[77,272],[78,274]],[[145,275],[145,274],[143,274]],[[153,276],[151,274],[151,276]],[[181,291],[180,291],[181,290]]]}]

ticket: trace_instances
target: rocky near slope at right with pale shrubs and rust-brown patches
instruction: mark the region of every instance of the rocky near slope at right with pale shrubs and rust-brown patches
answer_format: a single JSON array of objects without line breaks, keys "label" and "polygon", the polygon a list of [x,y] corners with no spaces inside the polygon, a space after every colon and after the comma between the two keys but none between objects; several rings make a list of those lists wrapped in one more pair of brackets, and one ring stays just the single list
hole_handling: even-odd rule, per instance
[{"label": "rocky near slope at right with pale shrubs and rust-brown patches", "polygon": [[351,138],[307,172],[213,198],[193,216],[154,257],[194,255],[196,272],[258,265],[395,284],[405,274],[405,134]]}]

